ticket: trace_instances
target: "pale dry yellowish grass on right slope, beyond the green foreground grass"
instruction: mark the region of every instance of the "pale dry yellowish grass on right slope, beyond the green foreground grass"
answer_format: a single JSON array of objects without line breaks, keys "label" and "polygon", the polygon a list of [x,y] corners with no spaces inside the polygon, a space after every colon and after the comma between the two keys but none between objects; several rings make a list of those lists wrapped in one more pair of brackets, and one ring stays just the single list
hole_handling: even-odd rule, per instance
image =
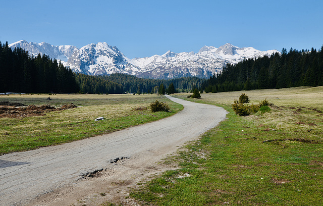
[{"label": "pale dry yellowish grass on right slope, beyond the green foreground grass", "polygon": [[[259,104],[265,98],[274,104],[270,113],[252,115],[247,117],[248,120],[257,125],[263,124],[266,127],[290,132],[305,131],[308,137],[321,139],[323,113],[320,112],[323,112],[323,86],[202,93],[201,99],[194,101],[228,106],[232,105],[235,99],[239,99],[242,93],[248,95],[249,104]],[[187,95],[189,94],[175,94],[182,98]]]}]

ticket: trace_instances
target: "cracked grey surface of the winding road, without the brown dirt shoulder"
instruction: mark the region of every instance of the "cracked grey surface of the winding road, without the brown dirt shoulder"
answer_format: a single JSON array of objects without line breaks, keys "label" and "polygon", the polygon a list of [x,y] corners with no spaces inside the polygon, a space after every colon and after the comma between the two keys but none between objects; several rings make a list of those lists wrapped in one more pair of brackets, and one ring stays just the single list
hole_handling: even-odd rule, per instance
[{"label": "cracked grey surface of the winding road, without the brown dirt shoulder", "polygon": [[166,96],[184,110],[111,134],[0,156],[0,205],[27,205],[118,157],[130,157],[133,164],[160,160],[226,118],[223,108]]}]

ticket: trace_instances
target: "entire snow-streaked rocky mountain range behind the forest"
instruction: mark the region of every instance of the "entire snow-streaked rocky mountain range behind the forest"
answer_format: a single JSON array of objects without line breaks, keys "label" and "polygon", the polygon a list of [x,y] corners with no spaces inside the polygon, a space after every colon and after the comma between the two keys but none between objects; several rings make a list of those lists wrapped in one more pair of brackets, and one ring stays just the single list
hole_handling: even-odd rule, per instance
[{"label": "entire snow-streaked rocky mountain range behind the forest", "polygon": [[25,40],[9,44],[13,49],[21,47],[30,55],[48,55],[60,60],[74,72],[88,75],[131,74],[144,78],[170,79],[186,76],[208,78],[221,72],[227,63],[236,64],[243,59],[271,56],[278,50],[260,51],[253,47],[239,48],[230,43],[220,46],[203,46],[198,53],[173,53],[129,59],[116,46],[106,42],[91,43],[81,48],[72,45],[54,46],[46,42]]}]

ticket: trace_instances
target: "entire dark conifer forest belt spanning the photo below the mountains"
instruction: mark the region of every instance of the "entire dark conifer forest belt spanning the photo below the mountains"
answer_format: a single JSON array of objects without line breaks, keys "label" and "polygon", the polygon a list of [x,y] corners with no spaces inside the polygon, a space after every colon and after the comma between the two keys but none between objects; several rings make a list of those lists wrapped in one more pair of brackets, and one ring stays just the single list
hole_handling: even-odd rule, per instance
[{"label": "entire dark conifer forest belt spanning the photo below the mountains", "polygon": [[320,50],[287,49],[271,57],[227,64],[209,79],[182,77],[145,79],[115,73],[90,76],[73,73],[46,55],[30,56],[22,48],[12,50],[0,42],[0,92],[21,93],[166,93],[223,92],[266,88],[323,85],[323,46]]}]

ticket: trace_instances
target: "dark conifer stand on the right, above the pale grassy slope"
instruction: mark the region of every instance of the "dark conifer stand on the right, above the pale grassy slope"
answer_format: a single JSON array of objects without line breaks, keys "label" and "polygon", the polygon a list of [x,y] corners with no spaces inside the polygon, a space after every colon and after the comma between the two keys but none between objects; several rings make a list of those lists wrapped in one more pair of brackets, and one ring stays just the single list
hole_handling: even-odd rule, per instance
[{"label": "dark conifer stand on the right, above the pale grassy slope", "polygon": [[323,46],[320,50],[286,48],[271,57],[227,64],[202,84],[205,92],[323,85]]}]

